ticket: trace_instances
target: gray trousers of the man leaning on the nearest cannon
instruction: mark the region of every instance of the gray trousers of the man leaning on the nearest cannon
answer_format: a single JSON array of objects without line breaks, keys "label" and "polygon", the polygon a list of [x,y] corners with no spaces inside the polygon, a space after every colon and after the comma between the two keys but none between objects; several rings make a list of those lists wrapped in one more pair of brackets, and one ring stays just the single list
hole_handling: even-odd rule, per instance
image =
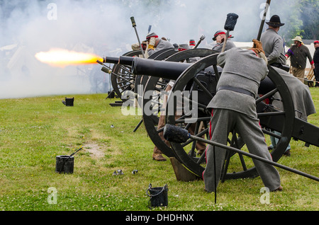
[{"label": "gray trousers of the man leaning on the nearest cannon", "polygon": [[[235,129],[237,134],[240,134],[240,137],[242,137],[248,151],[250,151],[250,154],[272,160],[272,155],[267,149],[264,134],[259,126],[259,120],[257,118],[252,118],[233,110],[213,109],[210,129],[211,141],[218,142],[220,144],[227,144],[229,132]],[[219,182],[223,163],[225,161],[226,149],[216,146],[215,152],[216,180]],[[203,171],[205,189],[208,192],[213,192],[215,190],[213,154],[213,146],[209,145],[206,149],[206,168],[205,171]],[[254,166],[256,167],[260,178],[262,178],[264,186],[269,188],[270,191],[279,188],[280,177],[276,168],[268,163],[263,163],[256,159],[253,159],[252,161],[254,162]]]}]

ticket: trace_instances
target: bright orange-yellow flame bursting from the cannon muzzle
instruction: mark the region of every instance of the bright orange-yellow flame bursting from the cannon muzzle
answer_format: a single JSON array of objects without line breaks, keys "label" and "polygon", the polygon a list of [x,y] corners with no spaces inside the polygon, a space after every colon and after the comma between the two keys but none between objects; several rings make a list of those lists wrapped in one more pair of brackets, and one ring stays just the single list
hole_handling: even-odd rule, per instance
[{"label": "bright orange-yellow flame bursting from the cannon muzzle", "polygon": [[48,52],[38,52],[35,58],[40,62],[50,64],[52,67],[67,67],[71,65],[94,64],[103,58],[96,54],[74,52],[62,49],[52,49]]}]

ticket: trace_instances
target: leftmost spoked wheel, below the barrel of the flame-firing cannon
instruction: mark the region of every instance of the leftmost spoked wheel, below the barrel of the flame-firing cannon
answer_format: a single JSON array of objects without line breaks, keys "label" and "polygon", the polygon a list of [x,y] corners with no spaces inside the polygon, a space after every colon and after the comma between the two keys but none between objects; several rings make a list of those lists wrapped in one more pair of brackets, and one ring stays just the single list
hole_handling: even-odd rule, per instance
[{"label": "leftmost spoked wheel, below the barrel of the flame-firing cannon", "polygon": [[[138,57],[140,54],[140,51],[131,51],[123,54],[123,56]],[[132,67],[114,64],[111,74],[111,83],[113,90],[120,98],[122,97],[124,91],[135,92],[135,75],[132,73]]]}]

